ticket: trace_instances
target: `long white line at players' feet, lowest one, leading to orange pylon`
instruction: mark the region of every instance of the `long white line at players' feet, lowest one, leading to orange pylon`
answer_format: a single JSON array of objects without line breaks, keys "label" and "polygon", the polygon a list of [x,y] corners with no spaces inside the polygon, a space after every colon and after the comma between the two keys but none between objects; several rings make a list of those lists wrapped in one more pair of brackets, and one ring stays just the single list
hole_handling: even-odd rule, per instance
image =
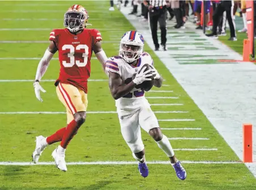
[{"label": "long white line at players' feet, lowest one, leading to orange pylon", "polygon": [[[182,164],[244,164],[241,161],[181,161]],[[129,165],[129,164],[138,164],[138,162],[126,162],[126,161],[99,161],[99,162],[66,162],[67,165]],[[169,161],[147,161],[147,164],[170,164]],[[36,166],[36,165],[56,165],[55,162],[39,162],[34,164],[33,162],[0,162],[0,165],[4,166]]]}]

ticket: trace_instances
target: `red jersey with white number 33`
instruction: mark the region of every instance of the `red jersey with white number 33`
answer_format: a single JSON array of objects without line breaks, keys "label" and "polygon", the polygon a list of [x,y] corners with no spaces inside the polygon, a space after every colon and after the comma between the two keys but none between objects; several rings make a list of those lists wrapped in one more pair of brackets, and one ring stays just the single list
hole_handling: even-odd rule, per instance
[{"label": "red jersey with white number 33", "polygon": [[83,29],[74,35],[68,29],[54,29],[50,33],[59,51],[61,69],[57,81],[70,83],[87,93],[87,80],[91,73],[92,46],[101,41],[96,29]]}]

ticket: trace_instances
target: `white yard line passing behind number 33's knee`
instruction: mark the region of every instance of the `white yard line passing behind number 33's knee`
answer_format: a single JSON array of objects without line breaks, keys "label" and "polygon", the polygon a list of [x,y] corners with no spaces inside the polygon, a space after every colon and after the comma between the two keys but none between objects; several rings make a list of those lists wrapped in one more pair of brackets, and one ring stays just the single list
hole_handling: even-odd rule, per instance
[{"label": "white yard line passing behind number 33's knee", "polygon": [[[97,111],[86,113],[117,113],[116,111]],[[188,113],[183,111],[155,111],[154,113]],[[0,112],[0,114],[66,114],[66,112]]]}]

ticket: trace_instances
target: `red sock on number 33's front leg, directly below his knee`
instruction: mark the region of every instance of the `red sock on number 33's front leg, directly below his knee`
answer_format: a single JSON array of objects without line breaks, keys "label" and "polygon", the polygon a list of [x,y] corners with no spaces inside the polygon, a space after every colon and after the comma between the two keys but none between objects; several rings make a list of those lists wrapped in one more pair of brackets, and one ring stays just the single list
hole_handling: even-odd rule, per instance
[{"label": "red sock on number 33's front leg, directly below his knee", "polygon": [[73,136],[76,134],[80,126],[78,126],[78,123],[76,123],[75,120],[72,120],[69,125],[67,125],[67,128],[63,134],[62,140],[61,140],[61,147],[67,148],[67,145],[69,144],[70,140],[73,138]]}]

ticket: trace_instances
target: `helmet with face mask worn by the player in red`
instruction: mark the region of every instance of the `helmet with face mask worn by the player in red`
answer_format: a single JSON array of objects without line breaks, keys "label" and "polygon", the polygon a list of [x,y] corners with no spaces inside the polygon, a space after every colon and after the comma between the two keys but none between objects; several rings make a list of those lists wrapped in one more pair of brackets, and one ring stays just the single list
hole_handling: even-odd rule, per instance
[{"label": "helmet with face mask worn by the player in red", "polygon": [[64,14],[64,26],[70,32],[78,32],[86,28],[88,18],[88,12],[83,6],[73,5]]}]

